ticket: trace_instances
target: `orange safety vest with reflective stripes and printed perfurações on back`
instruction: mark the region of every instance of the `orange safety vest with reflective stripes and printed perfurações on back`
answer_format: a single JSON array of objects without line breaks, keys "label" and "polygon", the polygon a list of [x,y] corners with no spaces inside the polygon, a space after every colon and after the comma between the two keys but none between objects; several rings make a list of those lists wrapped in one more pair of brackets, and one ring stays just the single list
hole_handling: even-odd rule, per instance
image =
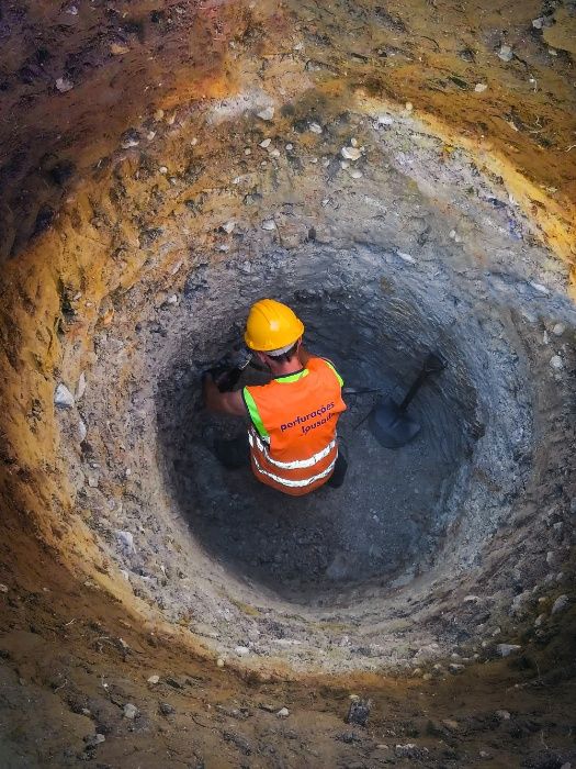
[{"label": "orange safety vest with reflective stripes and printed perfura\u00e7\u00f5es on back", "polygon": [[326,483],[338,458],[336,424],[346,411],[342,379],[325,358],[268,384],[245,387],[255,476],[300,497]]}]

